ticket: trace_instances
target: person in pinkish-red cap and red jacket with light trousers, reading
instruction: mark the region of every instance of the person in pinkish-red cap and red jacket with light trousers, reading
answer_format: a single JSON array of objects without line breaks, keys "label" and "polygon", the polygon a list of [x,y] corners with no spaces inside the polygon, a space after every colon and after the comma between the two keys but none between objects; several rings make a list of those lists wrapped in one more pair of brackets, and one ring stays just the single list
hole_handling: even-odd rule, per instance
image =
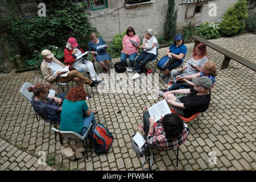
[{"label": "person in pinkish-red cap and red jacket with light trousers, reading", "polygon": [[84,51],[82,51],[81,47],[76,42],[75,38],[69,38],[68,43],[64,49],[64,61],[66,65],[73,66],[78,71],[85,71],[90,73],[90,77],[93,82],[97,82],[99,84],[101,81],[98,78],[98,75],[93,67],[93,63],[81,57],[76,60],[78,56],[80,56]]}]

